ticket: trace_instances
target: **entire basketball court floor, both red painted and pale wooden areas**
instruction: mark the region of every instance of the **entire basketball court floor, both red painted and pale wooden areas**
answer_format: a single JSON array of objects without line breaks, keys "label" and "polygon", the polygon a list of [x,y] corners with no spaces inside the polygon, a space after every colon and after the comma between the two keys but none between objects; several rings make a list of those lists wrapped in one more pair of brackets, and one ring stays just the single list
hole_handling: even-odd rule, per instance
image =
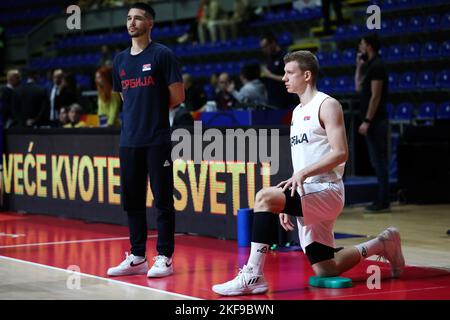
[{"label": "entire basketball court floor, both red painted and pale wooden areas", "polygon": [[[389,265],[373,257],[343,275],[352,278],[353,287],[313,288],[308,285],[312,269],[301,251],[271,251],[265,268],[269,292],[232,299],[450,299],[450,205],[394,205],[385,214],[345,208],[335,231],[365,237],[337,239],[336,244],[366,241],[390,225],[402,236],[407,268],[401,279],[391,279]],[[155,241],[150,231],[150,260]],[[108,267],[120,263],[129,250],[126,227],[2,212],[0,299],[230,299],[214,294],[211,286],[233,278],[249,249],[238,248],[236,241],[185,234],[177,234],[175,241],[174,275],[109,278]],[[380,267],[379,289],[367,286],[371,265]]]}]

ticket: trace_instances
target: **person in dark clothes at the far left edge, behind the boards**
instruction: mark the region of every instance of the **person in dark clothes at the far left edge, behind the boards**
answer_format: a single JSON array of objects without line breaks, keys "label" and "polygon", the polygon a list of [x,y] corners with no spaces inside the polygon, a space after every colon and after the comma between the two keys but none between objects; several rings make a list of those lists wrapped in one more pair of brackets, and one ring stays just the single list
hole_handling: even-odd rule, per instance
[{"label": "person in dark clothes at the far left edge, behind the boards", "polygon": [[9,128],[13,124],[12,108],[14,91],[20,85],[19,70],[13,69],[6,73],[6,86],[0,89],[0,117],[3,127]]}]

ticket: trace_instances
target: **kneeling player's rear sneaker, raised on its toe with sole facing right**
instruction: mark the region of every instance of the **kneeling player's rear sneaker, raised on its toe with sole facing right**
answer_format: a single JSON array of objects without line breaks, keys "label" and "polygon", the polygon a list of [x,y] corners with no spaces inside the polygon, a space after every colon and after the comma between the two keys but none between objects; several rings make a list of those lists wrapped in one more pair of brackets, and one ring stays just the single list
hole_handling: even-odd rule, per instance
[{"label": "kneeling player's rear sneaker, raised on its toe with sole facing right", "polygon": [[402,253],[400,233],[397,228],[389,227],[378,236],[383,242],[384,250],[381,254],[391,264],[391,273],[393,278],[398,278],[405,267],[405,258]]}]

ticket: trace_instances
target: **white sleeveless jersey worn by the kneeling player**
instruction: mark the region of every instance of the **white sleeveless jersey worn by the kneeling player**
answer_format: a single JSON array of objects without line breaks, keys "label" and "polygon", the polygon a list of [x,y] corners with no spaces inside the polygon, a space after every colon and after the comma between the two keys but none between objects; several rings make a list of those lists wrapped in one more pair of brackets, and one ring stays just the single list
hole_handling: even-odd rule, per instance
[{"label": "white sleeveless jersey worn by the kneeling player", "polygon": [[[331,152],[325,129],[319,121],[319,108],[329,98],[323,92],[317,92],[314,98],[302,106],[299,104],[292,113],[291,156],[294,173],[318,162]],[[308,177],[305,183],[335,182],[344,175],[345,162],[328,173]]]}]

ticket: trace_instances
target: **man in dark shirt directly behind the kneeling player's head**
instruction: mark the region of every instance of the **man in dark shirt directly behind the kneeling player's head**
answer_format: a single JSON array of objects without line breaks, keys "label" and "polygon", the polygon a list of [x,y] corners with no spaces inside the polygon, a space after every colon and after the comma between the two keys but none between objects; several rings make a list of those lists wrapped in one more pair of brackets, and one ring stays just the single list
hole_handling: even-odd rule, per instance
[{"label": "man in dark shirt directly behind the kneeling player's head", "polygon": [[297,104],[297,98],[288,93],[283,82],[284,62],[286,52],[281,49],[272,33],[261,37],[260,47],[267,57],[266,65],[261,67],[263,82],[268,92],[268,104],[281,109],[287,109]]}]

